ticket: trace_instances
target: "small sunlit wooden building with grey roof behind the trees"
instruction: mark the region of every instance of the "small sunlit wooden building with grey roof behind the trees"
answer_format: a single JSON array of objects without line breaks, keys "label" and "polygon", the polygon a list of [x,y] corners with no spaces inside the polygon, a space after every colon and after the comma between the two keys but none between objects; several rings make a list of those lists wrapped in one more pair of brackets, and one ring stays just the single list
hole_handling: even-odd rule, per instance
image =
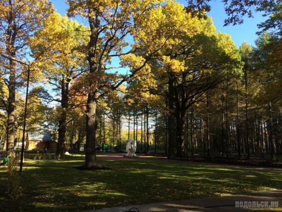
[{"label": "small sunlit wooden building with grey roof behind the trees", "polygon": [[50,132],[28,133],[26,137],[27,150],[56,148],[57,143],[52,141]]}]

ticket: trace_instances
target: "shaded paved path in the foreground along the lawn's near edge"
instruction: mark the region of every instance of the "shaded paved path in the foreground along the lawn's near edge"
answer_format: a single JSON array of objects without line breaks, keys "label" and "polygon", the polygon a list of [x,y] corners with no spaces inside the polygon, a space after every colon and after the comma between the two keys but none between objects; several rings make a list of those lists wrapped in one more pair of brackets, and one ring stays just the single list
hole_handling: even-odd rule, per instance
[{"label": "shaded paved path in the foreground along the lawn's near edge", "polygon": [[[128,205],[122,207],[113,207],[92,210],[96,212],[123,212],[129,208],[136,207],[140,212],[168,212],[168,211],[249,211],[251,208],[235,207],[235,201],[278,201],[279,207],[282,207],[282,190],[261,191],[244,195],[229,195],[204,197],[184,200],[174,200],[167,202],[156,202],[139,205]],[[91,211],[91,210],[90,210]],[[136,211],[136,210],[132,210]]]}]

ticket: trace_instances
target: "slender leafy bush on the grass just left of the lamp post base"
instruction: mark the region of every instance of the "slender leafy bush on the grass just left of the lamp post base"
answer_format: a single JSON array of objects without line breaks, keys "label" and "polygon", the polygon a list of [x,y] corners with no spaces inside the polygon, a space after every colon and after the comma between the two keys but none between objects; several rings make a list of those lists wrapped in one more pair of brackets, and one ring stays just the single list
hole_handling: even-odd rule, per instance
[{"label": "slender leafy bush on the grass just left of the lamp post base", "polygon": [[9,156],[8,161],[8,192],[9,197],[18,199],[22,195],[21,176],[17,167],[18,158],[15,154]]}]

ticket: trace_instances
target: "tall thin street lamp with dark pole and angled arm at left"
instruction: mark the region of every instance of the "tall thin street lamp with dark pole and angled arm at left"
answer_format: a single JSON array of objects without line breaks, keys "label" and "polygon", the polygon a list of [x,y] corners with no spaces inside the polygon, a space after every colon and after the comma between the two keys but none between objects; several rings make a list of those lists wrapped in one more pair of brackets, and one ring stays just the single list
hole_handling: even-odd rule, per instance
[{"label": "tall thin street lamp with dark pole and angled arm at left", "polygon": [[30,65],[17,60],[14,57],[11,57],[6,54],[1,54],[2,57],[7,58],[9,60],[16,61],[27,67],[27,90],[26,90],[26,102],[25,102],[25,115],[24,115],[24,128],[23,128],[23,139],[22,139],[22,150],[21,150],[21,163],[20,163],[20,172],[23,171],[23,161],[24,161],[24,149],[25,149],[25,131],[26,131],[26,116],[27,116],[27,99],[28,99],[28,86],[29,86],[29,76],[30,76]]}]

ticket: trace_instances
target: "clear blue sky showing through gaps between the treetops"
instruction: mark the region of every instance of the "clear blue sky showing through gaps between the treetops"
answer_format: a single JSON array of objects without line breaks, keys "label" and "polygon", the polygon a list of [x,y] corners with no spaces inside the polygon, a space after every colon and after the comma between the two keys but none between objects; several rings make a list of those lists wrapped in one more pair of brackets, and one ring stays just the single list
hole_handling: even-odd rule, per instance
[{"label": "clear blue sky showing through gaps between the treetops", "polygon": [[[54,8],[58,13],[64,15],[66,13],[67,4],[64,0],[51,0],[54,5]],[[186,6],[185,0],[178,0],[177,2]],[[209,16],[213,17],[213,21],[217,30],[231,34],[232,39],[235,44],[239,46],[243,43],[243,41],[247,41],[248,43],[254,45],[254,41],[256,39],[256,32],[258,31],[257,24],[265,20],[265,17],[262,17],[262,13],[254,14],[254,18],[245,18],[244,24],[236,25],[236,26],[227,26],[224,27],[224,20],[227,17],[224,11],[224,5],[221,3],[221,0],[213,0],[212,3],[212,11],[208,13]],[[82,20],[80,17],[77,18],[80,23],[87,24],[87,20]]]}]

